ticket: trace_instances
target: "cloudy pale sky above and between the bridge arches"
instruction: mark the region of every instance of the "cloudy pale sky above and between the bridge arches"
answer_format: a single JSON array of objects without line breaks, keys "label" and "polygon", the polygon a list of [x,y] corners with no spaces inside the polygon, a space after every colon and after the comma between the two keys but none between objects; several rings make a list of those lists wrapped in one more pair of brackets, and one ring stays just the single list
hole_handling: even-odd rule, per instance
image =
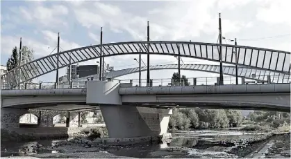
[{"label": "cloudy pale sky above and between the bridge arches", "polygon": [[[1,64],[6,65],[13,47],[19,47],[20,37],[24,46],[35,50],[36,59],[56,48],[58,32],[61,50],[99,44],[101,26],[103,43],[145,41],[147,21],[151,40],[217,43],[219,12],[222,35],[227,39],[236,37],[242,46],[290,51],[290,6],[290,0],[1,1]],[[133,58],[138,55],[106,57],[105,60],[115,69],[122,69],[138,66]],[[147,57],[144,55],[142,59],[145,62]],[[97,60],[81,64],[96,64]],[[183,58],[183,62],[216,64],[190,58]],[[151,64],[177,64],[177,59],[152,55]],[[170,78],[172,73],[174,70],[153,71],[151,78]],[[187,77],[217,76],[197,71],[181,73]],[[56,73],[49,73],[35,80],[52,82],[54,75]],[[65,69],[60,75],[65,75]],[[122,78],[138,79],[138,73]],[[142,78],[146,78],[146,73]]]}]

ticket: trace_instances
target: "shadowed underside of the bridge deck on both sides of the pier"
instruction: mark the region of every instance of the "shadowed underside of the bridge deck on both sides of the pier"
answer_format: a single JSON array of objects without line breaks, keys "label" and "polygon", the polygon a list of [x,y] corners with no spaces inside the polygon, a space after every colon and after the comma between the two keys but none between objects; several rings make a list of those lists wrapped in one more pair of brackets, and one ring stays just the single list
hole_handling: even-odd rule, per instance
[{"label": "shadowed underside of the bridge deck on both sides of the pier", "polygon": [[[106,106],[106,104],[102,104]],[[248,104],[238,102],[123,102],[126,106],[141,106],[157,109],[173,108],[203,108],[203,109],[241,109],[241,110],[265,110],[265,111],[283,111],[290,112],[290,107],[274,106],[274,104]],[[22,104],[15,106],[6,106],[9,109],[42,109],[52,111],[92,111],[99,110],[98,105],[89,105],[85,103],[52,103],[52,104]]]}]

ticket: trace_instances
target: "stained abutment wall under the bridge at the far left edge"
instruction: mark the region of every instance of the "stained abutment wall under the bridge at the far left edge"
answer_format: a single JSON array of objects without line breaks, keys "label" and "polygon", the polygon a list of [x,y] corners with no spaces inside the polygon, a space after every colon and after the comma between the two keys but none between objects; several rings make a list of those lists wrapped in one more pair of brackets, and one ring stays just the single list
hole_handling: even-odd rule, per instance
[{"label": "stained abutment wall under the bridge at the far left edge", "polygon": [[1,109],[1,129],[19,128],[19,118],[26,113],[27,109]]}]

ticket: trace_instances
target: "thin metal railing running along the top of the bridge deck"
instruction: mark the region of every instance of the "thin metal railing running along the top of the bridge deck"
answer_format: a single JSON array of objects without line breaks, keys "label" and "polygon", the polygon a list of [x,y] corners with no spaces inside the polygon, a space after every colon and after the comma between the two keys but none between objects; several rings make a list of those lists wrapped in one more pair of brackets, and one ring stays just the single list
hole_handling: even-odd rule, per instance
[{"label": "thin metal railing running along the top of the bridge deck", "polygon": [[[276,77],[266,76],[263,79],[251,80],[240,77],[238,84],[271,84],[276,83],[290,83],[289,79],[284,79],[283,75],[275,75]],[[276,80],[278,79],[278,80]],[[10,86],[6,83],[1,83],[1,90],[10,89],[51,89],[51,88],[86,88],[87,82],[91,80],[99,80],[99,77],[88,77],[87,80],[75,81],[75,82],[59,82],[58,86],[56,82],[40,82],[40,83],[26,83],[21,84],[20,88]],[[107,82],[118,82],[118,83],[131,83],[132,86],[139,86],[139,79],[103,79]],[[235,84],[235,77],[224,77],[224,85]],[[197,86],[197,85],[219,85],[219,77],[189,77],[187,79],[172,79],[172,78],[161,78],[151,79],[150,84],[147,84],[147,79],[141,79],[141,86]]]}]

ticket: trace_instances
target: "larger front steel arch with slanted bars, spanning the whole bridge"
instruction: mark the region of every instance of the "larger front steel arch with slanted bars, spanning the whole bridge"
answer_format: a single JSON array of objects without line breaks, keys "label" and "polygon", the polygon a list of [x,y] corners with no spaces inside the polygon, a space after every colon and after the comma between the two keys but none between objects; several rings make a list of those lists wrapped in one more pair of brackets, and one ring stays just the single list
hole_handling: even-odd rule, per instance
[{"label": "larger front steel arch with slanted bars, spanning the whole bridge", "polygon": [[[149,50],[147,46],[149,46]],[[219,62],[219,49],[222,51],[222,62],[225,64],[236,64],[233,54],[236,50],[239,66],[290,75],[290,52],[287,51],[189,41],[129,41],[86,46],[48,55],[18,66],[1,78],[10,86],[16,86],[35,77],[56,71],[58,68],[69,66],[69,64],[115,55],[149,53],[150,55],[192,57]],[[20,73],[24,77],[19,82]]]}]

